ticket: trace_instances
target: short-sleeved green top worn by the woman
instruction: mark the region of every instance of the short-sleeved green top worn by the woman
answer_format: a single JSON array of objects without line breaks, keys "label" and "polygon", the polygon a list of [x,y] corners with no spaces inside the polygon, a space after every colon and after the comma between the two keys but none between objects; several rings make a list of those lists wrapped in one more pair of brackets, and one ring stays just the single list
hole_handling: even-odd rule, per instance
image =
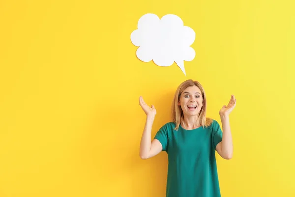
[{"label": "short-sleeved green top worn by the woman", "polygon": [[173,128],[173,122],[166,123],[154,137],[168,154],[166,197],[221,197],[215,158],[222,141],[218,122],[193,130]]}]

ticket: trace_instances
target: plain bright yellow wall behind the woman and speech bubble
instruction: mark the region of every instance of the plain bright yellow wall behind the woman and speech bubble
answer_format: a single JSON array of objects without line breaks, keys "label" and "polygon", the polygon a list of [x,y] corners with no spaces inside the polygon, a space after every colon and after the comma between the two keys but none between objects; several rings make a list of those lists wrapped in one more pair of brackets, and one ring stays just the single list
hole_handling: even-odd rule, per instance
[{"label": "plain bright yellow wall behind the woman and speech bubble", "polygon": [[[230,95],[234,157],[223,197],[295,196],[295,4],[291,0],[1,0],[0,197],[164,197],[167,154],[139,158],[143,96],[170,121],[174,91]],[[187,76],[141,62],[138,19],[176,14],[196,33]]]}]

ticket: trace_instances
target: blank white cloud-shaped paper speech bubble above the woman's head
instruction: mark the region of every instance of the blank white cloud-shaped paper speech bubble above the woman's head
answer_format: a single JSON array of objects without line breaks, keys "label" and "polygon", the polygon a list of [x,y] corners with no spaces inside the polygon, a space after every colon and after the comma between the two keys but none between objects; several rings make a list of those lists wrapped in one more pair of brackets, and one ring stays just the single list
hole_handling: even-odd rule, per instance
[{"label": "blank white cloud-shaped paper speech bubble above the woman's head", "polygon": [[186,76],[184,61],[192,61],[195,51],[190,45],[195,41],[192,28],[183,25],[180,17],[167,14],[161,19],[155,14],[145,14],[138,20],[137,30],[131,33],[131,42],[139,48],[136,56],[143,62],[158,66],[171,66],[174,62]]}]

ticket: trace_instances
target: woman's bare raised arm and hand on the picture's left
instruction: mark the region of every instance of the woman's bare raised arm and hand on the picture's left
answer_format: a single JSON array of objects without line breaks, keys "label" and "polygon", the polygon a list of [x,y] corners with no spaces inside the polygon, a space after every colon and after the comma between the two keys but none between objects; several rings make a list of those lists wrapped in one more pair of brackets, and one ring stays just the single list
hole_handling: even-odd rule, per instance
[{"label": "woman's bare raised arm and hand on the picture's left", "polygon": [[147,115],[144,131],[140,141],[139,156],[141,159],[148,159],[162,151],[162,144],[157,139],[151,141],[151,130],[156,115],[156,109],[153,105],[149,107],[144,102],[142,97],[139,99],[139,104]]}]

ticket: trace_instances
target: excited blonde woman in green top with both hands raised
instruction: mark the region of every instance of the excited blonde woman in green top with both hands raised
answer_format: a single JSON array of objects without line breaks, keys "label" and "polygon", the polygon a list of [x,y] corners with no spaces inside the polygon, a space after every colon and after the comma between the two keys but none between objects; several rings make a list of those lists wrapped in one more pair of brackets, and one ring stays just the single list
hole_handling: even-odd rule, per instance
[{"label": "excited blonde woman in green top with both hands raised", "polygon": [[233,155],[229,114],[236,106],[234,95],[220,111],[217,121],[206,117],[207,101],[201,84],[186,80],[177,88],[172,104],[172,122],[166,123],[151,140],[156,115],[139,98],[147,115],[140,142],[140,157],[148,159],[166,151],[168,175],[166,197],[220,197],[215,150],[224,159]]}]

